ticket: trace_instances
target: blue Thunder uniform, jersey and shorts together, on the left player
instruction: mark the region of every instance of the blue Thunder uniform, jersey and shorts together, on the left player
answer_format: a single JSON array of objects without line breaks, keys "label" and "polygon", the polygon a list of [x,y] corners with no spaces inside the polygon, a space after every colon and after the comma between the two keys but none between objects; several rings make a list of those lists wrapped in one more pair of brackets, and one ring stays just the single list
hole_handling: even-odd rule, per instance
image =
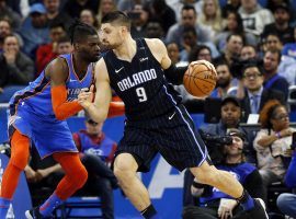
[{"label": "blue Thunder uniform, jersey and shorts together, on the left player", "polygon": [[[89,88],[93,80],[93,65],[90,64],[83,79],[79,80],[73,70],[72,55],[60,56],[65,58],[69,68],[66,81],[67,101],[78,97],[82,88]],[[10,100],[9,135],[14,129],[33,140],[41,158],[55,152],[78,152],[71,131],[66,120],[58,120],[55,116],[50,80],[45,77],[45,70],[25,89],[18,91]]]}]

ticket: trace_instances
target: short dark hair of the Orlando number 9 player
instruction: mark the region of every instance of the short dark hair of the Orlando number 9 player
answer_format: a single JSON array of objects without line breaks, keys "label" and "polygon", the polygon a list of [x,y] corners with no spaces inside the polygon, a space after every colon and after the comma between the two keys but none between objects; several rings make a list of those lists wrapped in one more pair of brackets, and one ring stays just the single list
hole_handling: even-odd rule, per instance
[{"label": "short dark hair of the Orlando number 9 player", "polygon": [[117,23],[130,31],[130,19],[122,11],[113,11],[102,18],[101,23]]}]

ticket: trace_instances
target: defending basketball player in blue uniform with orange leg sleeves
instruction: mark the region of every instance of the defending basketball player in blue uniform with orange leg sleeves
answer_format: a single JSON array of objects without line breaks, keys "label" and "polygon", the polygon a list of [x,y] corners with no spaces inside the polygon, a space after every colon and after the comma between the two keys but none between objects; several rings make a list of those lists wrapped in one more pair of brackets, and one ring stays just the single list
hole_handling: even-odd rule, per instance
[{"label": "defending basketball player in blue uniform with orange leg sleeves", "polygon": [[100,57],[99,35],[91,26],[77,22],[70,27],[70,37],[73,53],[50,61],[35,81],[10,101],[11,159],[2,177],[0,218],[5,218],[20,173],[27,164],[31,140],[41,158],[53,155],[60,163],[65,177],[42,206],[25,212],[26,218],[50,217],[88,178],[65,119],[82,110],[77,96],[93,82],[93,62]]}]

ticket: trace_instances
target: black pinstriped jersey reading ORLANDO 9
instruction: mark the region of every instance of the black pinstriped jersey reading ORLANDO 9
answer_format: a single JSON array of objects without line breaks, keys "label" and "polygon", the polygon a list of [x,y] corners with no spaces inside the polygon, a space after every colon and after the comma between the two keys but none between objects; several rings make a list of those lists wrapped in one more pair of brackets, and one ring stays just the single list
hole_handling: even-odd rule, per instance
[{"label": "black pinstriped jersey reading ORLANDO 9", "polygon": [[130,122],[160,116],[181,102],[145,39],[136,39],[136,44],[132,62],[118,59],[113,50],[103,55],[111,87],[125,103],[125,114]]}]

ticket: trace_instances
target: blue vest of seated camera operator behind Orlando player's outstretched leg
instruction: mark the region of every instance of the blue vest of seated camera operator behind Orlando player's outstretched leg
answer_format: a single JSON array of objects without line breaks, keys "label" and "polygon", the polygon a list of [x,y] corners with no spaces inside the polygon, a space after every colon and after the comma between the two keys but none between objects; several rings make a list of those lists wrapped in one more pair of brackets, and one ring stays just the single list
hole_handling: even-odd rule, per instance
[{"label": "blue vest of seated camera operator behind Orlando player's outstretched leg", "polygon": [[[248,175],[250,175],[255,170],[255,166],[253,166],[250,163],[239,163],[239,164],[229,164],[229,165],[217,165],[216,168],[218,170],[226,171],[226,172],[230,173],[242,185],[244,184],[246,178],[248,177]],[[212,188],[212,193],[210,193],[209,196],[201,197],[200,198],[200,201],[201,201],[202,205],[205,205],[208,201],[220,199],[220,198],[230,198],[230,199],[234,199],[232,197],[230,197],[229,195],[220,192],[216,187],[210,187],[210,188]]]}]

